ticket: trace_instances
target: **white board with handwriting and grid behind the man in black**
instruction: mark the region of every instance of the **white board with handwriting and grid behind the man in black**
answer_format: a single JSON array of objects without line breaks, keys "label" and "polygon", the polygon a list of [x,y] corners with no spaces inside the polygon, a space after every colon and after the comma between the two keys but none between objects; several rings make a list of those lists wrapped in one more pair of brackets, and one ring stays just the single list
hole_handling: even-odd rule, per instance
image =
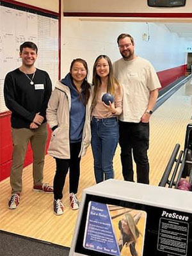
[{"label": "white board with handwriting and grid behind the man in black", "polygon": [[8,111],[3,96],[4,77],[20,67],[19,47],[25,41],[38,47],[35,66],[49,74],[53,85],[58,80],[58,17],[0,5],[0,113]]}]

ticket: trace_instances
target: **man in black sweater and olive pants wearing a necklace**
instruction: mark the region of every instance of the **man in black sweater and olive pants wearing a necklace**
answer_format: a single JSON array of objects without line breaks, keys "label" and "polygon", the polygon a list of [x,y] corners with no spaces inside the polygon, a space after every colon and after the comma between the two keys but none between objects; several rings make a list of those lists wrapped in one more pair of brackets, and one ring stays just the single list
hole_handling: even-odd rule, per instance
[{"label": "man in black sweater and olive pants wearing a necklace", "polygon": [[22,65],[4,79],[4,101],[12,111],[13,155],[10,174],[12,196],[9,209],[15,209],[22,191],[22,169],[29,141],[33,150],[33,189],[52,193],[43,184],[45,145],[47,141],[46,108],[52,85],[47,72],[35,67],[37,47],[33,42],[20,45]]}]

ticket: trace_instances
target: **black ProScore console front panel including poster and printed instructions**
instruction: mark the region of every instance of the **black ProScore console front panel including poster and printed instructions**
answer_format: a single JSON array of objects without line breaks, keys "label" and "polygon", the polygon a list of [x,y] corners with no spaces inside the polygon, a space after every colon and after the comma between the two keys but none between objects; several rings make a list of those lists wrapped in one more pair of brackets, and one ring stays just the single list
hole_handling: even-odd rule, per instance
[{"label": "black ProScore console front panel including poster and printed instructions", "polygon": [[91,256],[191,256],[192,212],[115,199],[108,204],[100,196],[88,195],[86,200],[76,252]]}]

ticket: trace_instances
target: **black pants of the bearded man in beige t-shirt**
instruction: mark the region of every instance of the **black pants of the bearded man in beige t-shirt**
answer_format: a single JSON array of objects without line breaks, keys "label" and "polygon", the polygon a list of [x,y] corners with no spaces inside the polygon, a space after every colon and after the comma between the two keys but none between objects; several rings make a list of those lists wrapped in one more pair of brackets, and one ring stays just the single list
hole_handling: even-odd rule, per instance
[{"label": "black pants of the bearded man in beige t-shirt", "polygon": [[132,155],[136,163],[137,181],[149,184],[147,157],[149,124],[119,121],[122,173],[124,180],[133,180]]}]

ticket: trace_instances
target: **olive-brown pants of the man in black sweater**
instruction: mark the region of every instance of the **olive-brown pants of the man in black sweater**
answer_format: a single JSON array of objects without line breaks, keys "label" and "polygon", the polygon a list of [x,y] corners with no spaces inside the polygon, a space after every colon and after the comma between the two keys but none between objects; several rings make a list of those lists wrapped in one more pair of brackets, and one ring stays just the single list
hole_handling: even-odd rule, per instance
[{"label": "olive-brown pants of the man in black sweater", "polygon": [[44,177],[45,145],[47,142],[47,124],[37,129],[12,128],[13,154],[10,174],[12,194],[22,191],[22,170],[28,143],[33,151],[33,184],[41,185]]}]

